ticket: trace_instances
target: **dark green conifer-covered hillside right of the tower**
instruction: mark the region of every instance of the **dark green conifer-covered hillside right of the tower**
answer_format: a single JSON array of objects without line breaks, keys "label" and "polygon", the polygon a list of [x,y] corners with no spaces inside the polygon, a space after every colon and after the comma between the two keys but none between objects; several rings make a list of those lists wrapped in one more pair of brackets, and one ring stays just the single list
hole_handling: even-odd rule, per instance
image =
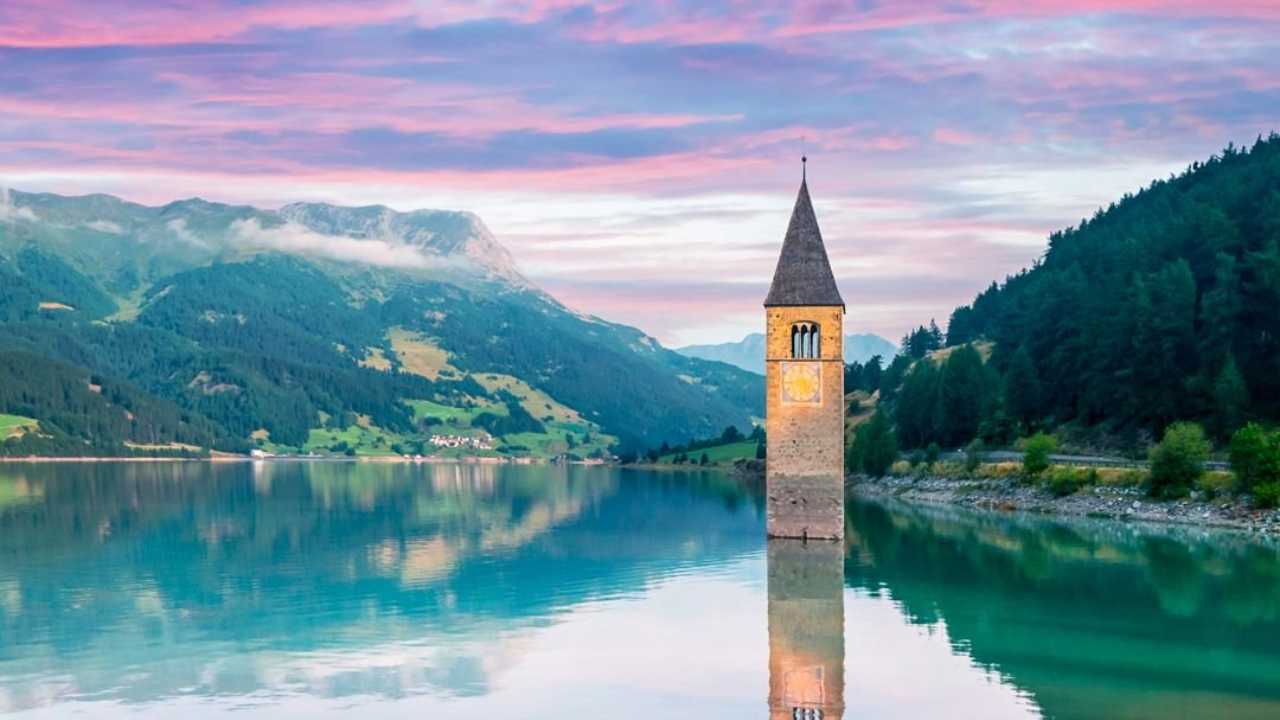
[{"label": "dark green conifer-covered hillside right of the tower", "polygon": [[1074,428],[1140,445],[1175,420],[1219,439],[1280,420],[1280,136],[1228,147],[1050,237],[1030,269],[920,328],[877,373],[901,442]]}]

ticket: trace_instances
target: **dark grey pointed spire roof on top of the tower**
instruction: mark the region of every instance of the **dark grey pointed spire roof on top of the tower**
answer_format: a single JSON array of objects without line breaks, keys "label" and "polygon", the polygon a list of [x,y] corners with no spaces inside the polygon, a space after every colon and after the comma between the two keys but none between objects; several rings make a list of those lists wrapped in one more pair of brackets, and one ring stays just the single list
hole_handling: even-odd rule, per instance
[{"label": "dark grey pointed spire roof on top of the tower", "polygon": [[765,307],[776,305],[845,306],[827,261],[827,249],[822,245],[818,218],[813,214],[809,182],[804,178],[796,206],[791,210],[787,237],[782,241],[782,255],[773,270],[769,296],[764,299]]}]

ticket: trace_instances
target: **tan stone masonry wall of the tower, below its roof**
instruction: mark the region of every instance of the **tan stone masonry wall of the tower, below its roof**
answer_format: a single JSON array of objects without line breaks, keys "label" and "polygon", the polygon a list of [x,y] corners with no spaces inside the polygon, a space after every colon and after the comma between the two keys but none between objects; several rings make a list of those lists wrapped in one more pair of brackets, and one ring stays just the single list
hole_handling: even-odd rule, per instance
[{"label": "tan stone masonry wall of the tower, below its roof", "polygon": [[[822,402],[782,401],[781,363],[792,363],[791,325],[822,328]],[[768,418],[768,533],[840,538],[845,529],[845,363],[842,307],[768,307],[765,407]]]}]

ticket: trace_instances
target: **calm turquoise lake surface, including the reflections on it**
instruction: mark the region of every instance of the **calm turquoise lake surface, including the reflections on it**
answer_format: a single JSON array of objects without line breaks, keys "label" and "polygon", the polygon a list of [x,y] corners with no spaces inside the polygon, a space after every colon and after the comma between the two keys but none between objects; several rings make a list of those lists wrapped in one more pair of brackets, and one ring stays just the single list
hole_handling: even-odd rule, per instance
[{"label": "calm turquoise lake surface, including the reflections on it", "polygon": [[717,473],[0,464],[19,717],[1280,717],[1280,552]]}]

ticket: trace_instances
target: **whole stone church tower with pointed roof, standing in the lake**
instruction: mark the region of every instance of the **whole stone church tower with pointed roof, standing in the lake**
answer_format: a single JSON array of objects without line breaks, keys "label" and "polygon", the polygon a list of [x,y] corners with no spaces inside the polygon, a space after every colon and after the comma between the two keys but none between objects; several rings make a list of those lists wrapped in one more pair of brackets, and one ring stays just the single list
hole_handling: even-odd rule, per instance
[{"label": "whole stone church tower with pointed roof, standing in the lake", "polygon": [[842,538],[845,301],[806,179],[800,182],[764,314],[769,537]]}]

